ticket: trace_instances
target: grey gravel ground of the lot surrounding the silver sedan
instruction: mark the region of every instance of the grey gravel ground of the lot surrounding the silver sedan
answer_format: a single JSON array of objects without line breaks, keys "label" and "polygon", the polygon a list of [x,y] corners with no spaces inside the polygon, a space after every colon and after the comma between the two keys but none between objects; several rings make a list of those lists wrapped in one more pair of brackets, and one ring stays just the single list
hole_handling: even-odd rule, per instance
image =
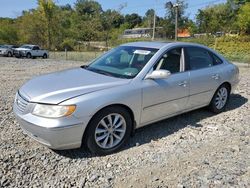
[{"label": "grey gravel ground of the lot surrounding the silver sedan", "polygon": [[81,62],[0,57],[0,187],[250,187],[250,69],[225,112],[196,110],[137,130],[123,151],[52,151],[22,133],[12,103],[31,77]]}]

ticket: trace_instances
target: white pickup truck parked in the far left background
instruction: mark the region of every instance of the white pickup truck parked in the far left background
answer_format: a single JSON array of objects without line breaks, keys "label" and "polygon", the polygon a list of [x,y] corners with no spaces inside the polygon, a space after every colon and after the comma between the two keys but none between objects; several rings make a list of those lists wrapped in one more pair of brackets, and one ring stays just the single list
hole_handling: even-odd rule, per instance
[{"label": "white pickup truck parked in the far left background", "polygon": [[49,57],[47,50],[41,49],[37,45],[25,44],[14,50],[15,57],[36,58],[42,57],[44,59]]}]

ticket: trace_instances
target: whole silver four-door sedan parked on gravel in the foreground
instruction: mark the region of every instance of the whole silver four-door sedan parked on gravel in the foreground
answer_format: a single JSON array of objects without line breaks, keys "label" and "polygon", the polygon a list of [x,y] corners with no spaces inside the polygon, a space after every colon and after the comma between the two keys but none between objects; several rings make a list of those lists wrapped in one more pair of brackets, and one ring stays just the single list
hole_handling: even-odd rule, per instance
[{"label": "whole silver four-door sedan parked on gravel in the foreground", "polygon": [[192,43],[121,45],[87,66],[38,76],[17,92],[22,129],[53,149],[119,150],[139,127],[208,106],[222,112],[238,68]]}]

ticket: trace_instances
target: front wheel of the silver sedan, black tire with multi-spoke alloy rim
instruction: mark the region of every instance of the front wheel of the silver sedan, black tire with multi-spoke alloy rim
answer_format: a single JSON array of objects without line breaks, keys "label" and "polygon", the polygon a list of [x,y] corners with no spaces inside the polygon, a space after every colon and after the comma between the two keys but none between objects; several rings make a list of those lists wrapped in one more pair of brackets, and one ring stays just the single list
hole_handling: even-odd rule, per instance
[{"label": "front wheel of the silver sedan, black tire with multi-spoke alloy rim", "polygon": [[[113,129],[110,124],[113,124]],[[119,106],[108,107],[90,121],[83,142],[91,153],[108,155],[122,148],[129,139],[131,130],[132,120],[127,110]]]}]

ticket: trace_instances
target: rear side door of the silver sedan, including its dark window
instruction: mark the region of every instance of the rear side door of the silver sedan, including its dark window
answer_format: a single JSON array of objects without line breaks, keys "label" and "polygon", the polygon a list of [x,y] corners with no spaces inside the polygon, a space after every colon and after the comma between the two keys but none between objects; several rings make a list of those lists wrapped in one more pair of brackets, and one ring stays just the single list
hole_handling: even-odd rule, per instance
[{"label": "rear side door of the silver sedan, including its dark window", "polygon": [[216,66],[212,53],[201,47],[186,47],[185,62],[190,74],[190,97],[187,107],[196,108],[209,104],[220,85],[221,66]]}]

